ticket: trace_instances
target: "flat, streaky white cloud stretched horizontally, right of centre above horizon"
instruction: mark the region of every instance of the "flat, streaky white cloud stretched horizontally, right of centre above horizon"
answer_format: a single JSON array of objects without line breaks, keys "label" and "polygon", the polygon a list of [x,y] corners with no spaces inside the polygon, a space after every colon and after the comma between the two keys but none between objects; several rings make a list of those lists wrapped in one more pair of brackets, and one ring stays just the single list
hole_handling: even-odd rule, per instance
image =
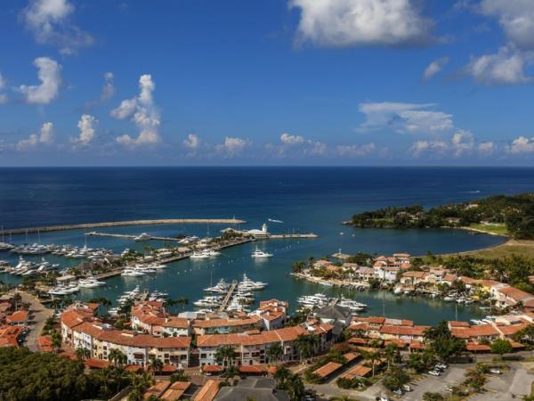
[{"label": "flat, streaky white cloud stretched horizontally, right of centre above horizon", "polygon": [[366,120],[359,131],[391,128],[399,133],[436,133],[454,127],[452,115],[428,110],[433,103],[365,102],[359,110]]}]

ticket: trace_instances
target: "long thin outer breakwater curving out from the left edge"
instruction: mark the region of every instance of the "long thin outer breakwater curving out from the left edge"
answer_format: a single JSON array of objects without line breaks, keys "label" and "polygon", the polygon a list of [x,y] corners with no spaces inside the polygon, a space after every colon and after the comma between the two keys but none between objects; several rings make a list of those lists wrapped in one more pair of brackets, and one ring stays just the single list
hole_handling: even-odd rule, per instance
[{"label": "long thin outer breakwater curving out from the left edge", "polygon": [[162,218],[154,220],[125,220],[104,223],[84,223],[78,225],[49,225],[46,227],[12,228],[4,230],[4,235],[24,233],[48,233],[51,231],[83,230],[86,228],[118,227],[124,225],[241,225],[247,223],[238,218]]}]

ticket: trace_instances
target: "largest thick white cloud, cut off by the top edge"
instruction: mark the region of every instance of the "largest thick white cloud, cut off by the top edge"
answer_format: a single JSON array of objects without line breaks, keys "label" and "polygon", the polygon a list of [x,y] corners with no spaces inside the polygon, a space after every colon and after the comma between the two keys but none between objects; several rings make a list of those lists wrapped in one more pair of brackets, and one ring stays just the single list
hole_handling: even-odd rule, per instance
[{"label": "largest thick white cloud, cut off by the top edge", "polygon": [[412,0],[290,0],[301,10],[298,35],[316,45],[413,45],[430,38],[433,21]]}]

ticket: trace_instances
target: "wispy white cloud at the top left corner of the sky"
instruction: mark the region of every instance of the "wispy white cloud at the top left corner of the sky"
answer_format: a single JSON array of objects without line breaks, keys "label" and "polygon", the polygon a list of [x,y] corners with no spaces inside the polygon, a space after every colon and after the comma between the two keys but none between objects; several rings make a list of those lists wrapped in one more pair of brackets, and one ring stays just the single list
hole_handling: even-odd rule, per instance
[{"label": "wispy white cloud at the top left corner of the sky", "polygon": [[69,0],[30,0],[21,17],[37,43],[57,46],[62,54],[73,54],[94,42],[90,34],[70,23],[74,11]]}]

